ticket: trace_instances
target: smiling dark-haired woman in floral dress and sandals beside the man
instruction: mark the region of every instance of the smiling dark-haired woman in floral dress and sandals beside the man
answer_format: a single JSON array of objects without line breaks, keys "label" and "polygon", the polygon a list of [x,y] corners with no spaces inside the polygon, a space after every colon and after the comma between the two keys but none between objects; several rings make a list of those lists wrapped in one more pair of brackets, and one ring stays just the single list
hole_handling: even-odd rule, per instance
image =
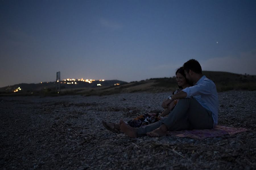
[{"label": "smiling dark-haired woman in floral dress and sandals beside the man", "polygon": [[[191,84],[189,84],[189,81],[186,79],[186,75],[185,75],[183,67],[180,67],[179,69],[177,69],[176,81],[178,83],[179,89],[177,89],[175,92],[173,92],[173,94],[176,94],[179,91],[181,91],[182,89],[191,86]],[[140,116],[136,117],[135,119],[128,121],[127,123],[131,127],[135,127],[135,128],[145,126],[150,123],[155,123],[155,122],[159,121],[160,119],[162,119],[162,117],[167,116],[172,111],[172,109],[175,107],[177,102],[178,102],[178,100],[169,104],[168,107],[165,108],[164,111],[160,115],[159,115],[159,113],[153,113],[153,114],[145,113],[144,115],[140,115]],[[119,123],[107,123],[105,121],[102,121],[102,124],[106,129],[108,129],[114,133],[117,133],[120,130]]]}]

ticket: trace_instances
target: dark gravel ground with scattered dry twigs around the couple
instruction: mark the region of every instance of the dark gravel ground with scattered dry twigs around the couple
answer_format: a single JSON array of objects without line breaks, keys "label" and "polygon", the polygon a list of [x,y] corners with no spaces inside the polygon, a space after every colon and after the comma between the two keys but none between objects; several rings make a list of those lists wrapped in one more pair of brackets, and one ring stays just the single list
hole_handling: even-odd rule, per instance
[{"label": "dark gravel ground with scattered dry twigs around the couple", "polygon": [[249,130],[235,135],[131,139],[101,124],[162,112],[169,94],[1,97],[0,169],[256,168],[256,91],[218,94],[218,125]]}]

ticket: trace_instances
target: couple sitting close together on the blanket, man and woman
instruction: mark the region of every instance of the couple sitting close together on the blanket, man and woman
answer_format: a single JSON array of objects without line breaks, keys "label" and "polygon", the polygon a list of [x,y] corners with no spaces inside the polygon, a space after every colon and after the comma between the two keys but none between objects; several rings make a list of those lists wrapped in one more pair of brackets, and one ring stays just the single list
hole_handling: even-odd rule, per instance
[{"label": "couple sitting close together on the blanket, man and woman", "polygon": [[127,136],[166,136],[167,131],[210,129],[218,123],[218,94],[214,82],[202,74],[199,62],[191,59],[176,71],[179,86],[163,101],[163,113],[144,114],[134,120],[107,123],[112,131],[123,131]]}]

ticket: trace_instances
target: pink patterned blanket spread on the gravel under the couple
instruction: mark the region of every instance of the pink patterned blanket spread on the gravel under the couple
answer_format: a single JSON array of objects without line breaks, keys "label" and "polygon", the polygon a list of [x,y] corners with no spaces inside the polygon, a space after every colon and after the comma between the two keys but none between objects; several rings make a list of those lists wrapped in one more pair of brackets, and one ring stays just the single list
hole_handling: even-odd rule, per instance
[{"label": "pink patterned blanket spread on the gravel under the couple", "polygon": [[195,139],[205,139],[223,136],[225,134],[236,134],[239,132],[248,131],[246,128],[234,128],[227,126],[216,126],[213,129],[202,129],[202,130],[181,130],[181,131],[168,131],[168,135],[175,135],[179,137],[189,137]]}]

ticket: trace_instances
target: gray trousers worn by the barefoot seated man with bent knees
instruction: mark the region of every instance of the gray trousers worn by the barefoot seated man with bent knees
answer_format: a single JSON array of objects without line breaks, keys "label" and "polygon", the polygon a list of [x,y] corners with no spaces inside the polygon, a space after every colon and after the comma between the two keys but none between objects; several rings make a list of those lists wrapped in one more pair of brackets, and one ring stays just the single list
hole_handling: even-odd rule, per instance
[{"label": "gray trousers worn by the barefoot seated man with bent knees", "polygon": [[191,130],[191,129],[210,129],[213,128],[212,112],[205,109],[194,98],[179,99],[168,117],[162,118],[156,123],[139,127],[138,137],[145,136],[165,124],[169,131]]}]

